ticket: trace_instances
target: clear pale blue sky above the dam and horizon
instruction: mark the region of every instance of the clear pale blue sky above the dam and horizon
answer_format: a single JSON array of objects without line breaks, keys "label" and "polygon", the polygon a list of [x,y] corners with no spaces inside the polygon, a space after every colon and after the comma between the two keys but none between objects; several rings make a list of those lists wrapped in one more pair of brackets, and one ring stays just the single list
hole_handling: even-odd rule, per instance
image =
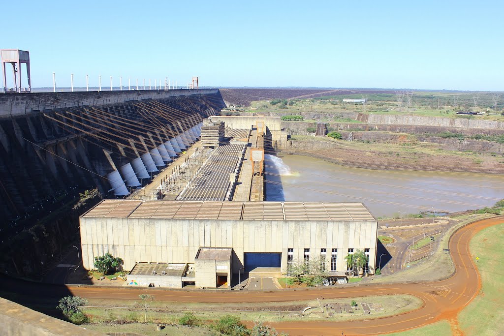
[{"label": "clear pale blue sky above the dam and horizon", "polygon": [[[179,85],[504,91],[501,1],[5,2],[0,47],[33,86]],[[21,15],[20,18],[16,15]]]}]

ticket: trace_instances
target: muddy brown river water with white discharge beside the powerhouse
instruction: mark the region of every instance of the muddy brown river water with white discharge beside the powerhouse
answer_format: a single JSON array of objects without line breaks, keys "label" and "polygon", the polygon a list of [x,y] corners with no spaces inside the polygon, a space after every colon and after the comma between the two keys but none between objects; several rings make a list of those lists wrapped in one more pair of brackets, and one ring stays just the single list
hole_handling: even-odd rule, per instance
[{"label": "muddy brown river water with white discharge beside the powerhouse", "polygon": [[265,155],[266,200],[362,202],[375,217],[456,212],[504,198],[504,175],[372,170]]}]

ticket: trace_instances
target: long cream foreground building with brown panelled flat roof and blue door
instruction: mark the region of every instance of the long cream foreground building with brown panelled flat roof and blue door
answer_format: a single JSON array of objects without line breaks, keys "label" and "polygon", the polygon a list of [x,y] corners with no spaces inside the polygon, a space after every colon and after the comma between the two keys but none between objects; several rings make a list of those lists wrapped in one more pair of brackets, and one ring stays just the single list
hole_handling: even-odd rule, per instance
[{"label": "long cream foreground building with brown panelled flat roof and blue door", "polygon": [[377,222],[362,203],[105,199],[81,216],[80,233],[88,269],[111,253],[132,270],[131,285],[212,288],[315,257],[341,275],[357,249],[373,274]]}]

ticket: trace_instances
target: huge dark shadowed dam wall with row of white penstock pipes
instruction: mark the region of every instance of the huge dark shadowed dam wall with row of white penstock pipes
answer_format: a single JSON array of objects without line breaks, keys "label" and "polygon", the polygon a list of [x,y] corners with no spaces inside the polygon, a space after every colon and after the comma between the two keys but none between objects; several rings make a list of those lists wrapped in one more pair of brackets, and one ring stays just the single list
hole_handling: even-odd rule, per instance
[{"label": "huge dark shadowed dam wall with row of white penstock pipes", "polygon": [[[147,184],[223,107],[218,89],[0,95],[0,235],[28,232],[19,245],[49,247],[25,252],[52,254],[56,246],[46,241],[52,234],[74,236],[65,226],[75,231],[79,214],[102,196],[122,197]],[[47,221],[94,188],[101,195],[82,210]],[[33,228],[43,219],[38,234]],[[8,262],[18,274],[33,271]]]}]

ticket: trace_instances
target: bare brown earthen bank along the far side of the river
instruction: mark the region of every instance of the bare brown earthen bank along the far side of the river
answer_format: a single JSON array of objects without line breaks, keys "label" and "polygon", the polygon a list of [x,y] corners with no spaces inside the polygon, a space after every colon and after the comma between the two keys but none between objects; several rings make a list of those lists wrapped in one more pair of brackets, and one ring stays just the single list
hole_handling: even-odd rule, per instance
[{"label": "bare brown earthen bank along the far side of the river", "polygon": [[375,170],[459,171],[502,174],[504,158],[475,152],[445,151],[436,144],[366,144],[328,137],[293,136],[281,155],[309,156],[347,167]]}]

